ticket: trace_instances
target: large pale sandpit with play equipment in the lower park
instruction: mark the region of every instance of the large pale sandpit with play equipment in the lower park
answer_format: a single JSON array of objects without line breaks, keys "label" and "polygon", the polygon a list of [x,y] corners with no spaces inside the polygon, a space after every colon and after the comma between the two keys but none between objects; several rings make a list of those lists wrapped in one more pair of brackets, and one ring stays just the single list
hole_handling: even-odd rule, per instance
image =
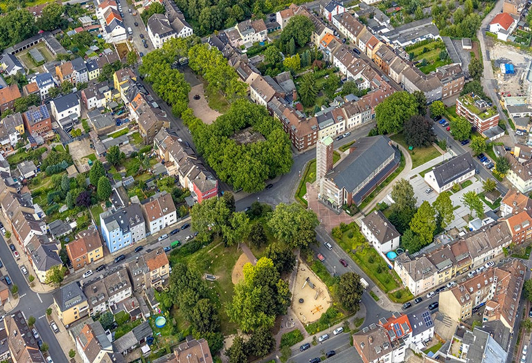
[{"label": "large pale sandpit with play equipment in the lower park", "polygon": [[292,310],[298,319],[303,324],[315,322],[330,305],[331,299],[325,283],[305,263],[299,261],[296,282],[292,291]]}]

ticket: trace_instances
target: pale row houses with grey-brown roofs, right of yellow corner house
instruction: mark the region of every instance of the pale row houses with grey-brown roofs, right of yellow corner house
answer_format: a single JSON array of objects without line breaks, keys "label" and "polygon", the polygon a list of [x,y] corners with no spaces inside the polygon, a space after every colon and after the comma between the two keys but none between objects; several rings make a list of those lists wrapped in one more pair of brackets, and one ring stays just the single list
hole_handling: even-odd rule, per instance
[{"label": "pale row houses with grey-brown roofs, right of yellow corner house", "polygon": [[108,274],[103,279],[83,286],[83,292],[89,303],[89,315],[100,315],[114,308],[116,304],[132,295],[132,284],[125,267]]}]

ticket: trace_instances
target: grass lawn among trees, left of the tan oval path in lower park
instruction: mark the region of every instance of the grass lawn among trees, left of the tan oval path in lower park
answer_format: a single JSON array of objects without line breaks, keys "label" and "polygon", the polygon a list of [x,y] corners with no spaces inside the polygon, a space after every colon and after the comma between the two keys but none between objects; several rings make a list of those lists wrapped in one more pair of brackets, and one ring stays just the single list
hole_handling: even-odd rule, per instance
[{"label": "grass lawn among trees, left of the tan oval path in lower park", "polygon": [[[197,252],[183,258],[178,257],[176,260],[177,262],[186,263],[188,268],[194,270],[197,274],[203,276],[204,273],[209,272],[217,277],[216,281],[208,282],[208,286],[211,301],[220,315],[220,330],[224,335],[234,334],[238,328],[237,324],[229,322],[226,308],[233,299],[231,272],[240,254],[242,254],[242,250],[239,250],[238,246],[234,245],[225,248],[224,243],[216,239],[213,243]],[[177,322],[184,321],[184,318],[180,315],[181,312],[179,310],[175,311],[174,316]],[[179,330],[182,330],[181,326],[178,327]]]}]

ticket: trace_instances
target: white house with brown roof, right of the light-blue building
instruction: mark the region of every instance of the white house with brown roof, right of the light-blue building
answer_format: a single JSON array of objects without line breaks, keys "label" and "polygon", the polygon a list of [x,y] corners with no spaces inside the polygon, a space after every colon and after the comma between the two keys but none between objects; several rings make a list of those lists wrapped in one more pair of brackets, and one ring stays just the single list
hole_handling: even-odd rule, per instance
[{"label": "white house with brown roof, right of the light-blue building", "polygon": [[167,192],[150,197],[141,208],[151,234],[177,222],[175,204]]}]

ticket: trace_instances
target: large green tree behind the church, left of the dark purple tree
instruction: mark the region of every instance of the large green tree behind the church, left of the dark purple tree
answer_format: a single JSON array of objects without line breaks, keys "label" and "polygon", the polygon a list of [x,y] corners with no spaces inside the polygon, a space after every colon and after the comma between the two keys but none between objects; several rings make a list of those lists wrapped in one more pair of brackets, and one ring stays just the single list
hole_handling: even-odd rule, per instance
[{"label": "large green tree behind the church, left of the dark purple tree", "polygon": [[375,107],[375,118],[380,133],[402,130],[405,121],[418,113],[416,97],[407,91],[395,92]]}]

